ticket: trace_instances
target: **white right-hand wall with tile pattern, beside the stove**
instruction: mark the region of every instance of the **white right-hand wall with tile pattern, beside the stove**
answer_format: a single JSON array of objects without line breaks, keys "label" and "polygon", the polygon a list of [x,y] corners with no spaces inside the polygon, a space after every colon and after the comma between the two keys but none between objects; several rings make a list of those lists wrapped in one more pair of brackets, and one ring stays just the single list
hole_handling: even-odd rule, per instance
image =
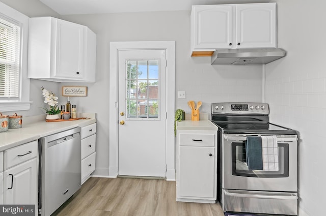
[{"label": "white right-hand wall with tile pattern, beside the stove", "polygon": [[320,215],[326,192],[326,2],[277,3],[278,45],[287,56],[266,66],[266,102],[271,122],[300,132],[300,208]]}]

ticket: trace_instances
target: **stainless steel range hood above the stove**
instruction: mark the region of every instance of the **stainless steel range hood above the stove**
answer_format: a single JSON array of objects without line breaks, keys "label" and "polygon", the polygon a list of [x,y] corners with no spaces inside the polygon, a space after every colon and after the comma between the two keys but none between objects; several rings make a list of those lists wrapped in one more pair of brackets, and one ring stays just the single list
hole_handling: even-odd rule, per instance
[{"label": "stainless steel range hood above the stove", "polygon": [[264,65],[285,56],[281,48],[216,49],[212,65]]}]

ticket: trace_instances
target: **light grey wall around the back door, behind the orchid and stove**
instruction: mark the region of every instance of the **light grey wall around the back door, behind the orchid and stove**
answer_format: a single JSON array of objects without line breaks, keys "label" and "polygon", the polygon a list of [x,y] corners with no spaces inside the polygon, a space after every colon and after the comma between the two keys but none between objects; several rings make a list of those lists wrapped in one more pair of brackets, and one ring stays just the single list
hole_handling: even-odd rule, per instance
[{"label": "light grey wall around the back door, behind the orchid and stove", "polygon": [[[186,99],[176,99],[176,108],[190,112],[188,100],[201,100],[201,112],[210,113],[210,103],[223,101],[261,102],[261,66],[211,66],[209,57],[190,57],[190,11],[118,13],[100,15],[59,16],[36,0],[0,0],[28,16],[56,16],[89,26],[97,34],[96,83],[88,86],[88,97],[71,98],[77,112],[97,113],[96,174],[107,175],[108,169],[108,85],[109,43],[111,41],[176,41],[176,90],[185,90]],[[46,81],[31,81],[33,109],[26,115],[42,113],[44,106],[40,87],[53,91],[62,85]],[[59,98],[60,104],[66,98]],[[37,111],[36,111],[37,110]],[[173,127],[171,125],[171,127]]]}]

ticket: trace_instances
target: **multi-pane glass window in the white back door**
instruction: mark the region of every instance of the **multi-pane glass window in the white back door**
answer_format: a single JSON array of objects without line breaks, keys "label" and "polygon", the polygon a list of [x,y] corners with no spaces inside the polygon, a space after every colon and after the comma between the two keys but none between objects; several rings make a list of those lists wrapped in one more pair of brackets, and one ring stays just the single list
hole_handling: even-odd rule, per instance
[{"label": "multi-pane glass window in the white back door", "polygon": [[126,61],[126,104],[128,118],[159,116],[159,61]]}]

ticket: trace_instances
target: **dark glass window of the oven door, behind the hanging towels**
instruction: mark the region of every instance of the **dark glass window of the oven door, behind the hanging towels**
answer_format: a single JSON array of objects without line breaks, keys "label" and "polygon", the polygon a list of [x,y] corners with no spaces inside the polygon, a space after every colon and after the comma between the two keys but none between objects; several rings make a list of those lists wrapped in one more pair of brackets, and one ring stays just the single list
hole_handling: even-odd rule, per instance
[{"label": "dark glass window of the oven door, behind the hanging towels", "polygon": [[232,143],[232,175],[279,178],[289,176],[289,144],[278,143],[279,169],[277,171],[249,170],[247,163],[246,143]]}]

